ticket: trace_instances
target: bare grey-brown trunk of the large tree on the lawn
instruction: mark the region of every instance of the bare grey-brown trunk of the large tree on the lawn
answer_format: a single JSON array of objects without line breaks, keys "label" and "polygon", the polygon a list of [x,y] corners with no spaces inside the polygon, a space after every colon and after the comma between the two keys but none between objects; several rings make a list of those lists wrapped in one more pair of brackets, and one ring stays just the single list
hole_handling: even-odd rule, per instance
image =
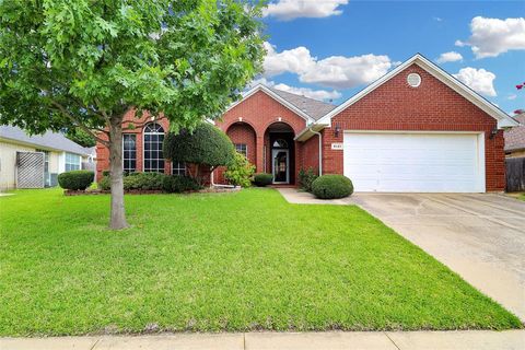
[{"label": "bare grey-brown trunk of the large tree on the lawn", "polygon": [[109,228],[120,230],[128,228],[124,209],[122,178],[122,116],[110,118],[109,125],[109,172],[112,178],[112,218]]}]

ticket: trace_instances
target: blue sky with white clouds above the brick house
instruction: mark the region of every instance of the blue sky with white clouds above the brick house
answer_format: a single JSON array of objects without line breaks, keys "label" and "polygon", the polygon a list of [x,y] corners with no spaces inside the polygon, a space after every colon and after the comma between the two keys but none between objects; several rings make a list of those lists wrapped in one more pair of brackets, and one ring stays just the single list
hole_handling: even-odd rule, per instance
[{"label": "blue sky with white clouds above the brick house", "polygon": [[503,110],[525,108],[525,1],[273,0],[264,21],[258,81],[278,89],[338,104],[420,52]]}]

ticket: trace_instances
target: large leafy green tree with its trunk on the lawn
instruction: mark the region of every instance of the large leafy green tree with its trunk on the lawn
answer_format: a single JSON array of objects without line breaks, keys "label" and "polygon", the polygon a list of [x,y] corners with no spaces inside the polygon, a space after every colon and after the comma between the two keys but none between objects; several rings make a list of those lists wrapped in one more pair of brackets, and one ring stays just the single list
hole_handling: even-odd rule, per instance
[{"label": "large leafy green tree with its trunk on the lawn", "polygon": [[0,122],[104,143],[110,228],[126,228],[124,115],[218,117],[261,69],[259,15],[240,0],[0,0]]}]

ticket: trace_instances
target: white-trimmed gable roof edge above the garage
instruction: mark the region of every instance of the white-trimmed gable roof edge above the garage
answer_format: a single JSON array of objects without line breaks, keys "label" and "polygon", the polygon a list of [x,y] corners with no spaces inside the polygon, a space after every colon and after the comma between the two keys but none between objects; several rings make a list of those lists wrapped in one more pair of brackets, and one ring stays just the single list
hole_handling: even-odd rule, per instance
[{"label": "white-trimmed gable roof edge above the garage", "polygon": [[337,108],[330,110],[328,114],[326,114],[323,118],[318,120],[319,124],[329,124],[331,118],[339,114],[341,110],[348,108],[372,91],[374,91],[376,88],[381,86],[383,83],[387,82],[392,78],[394,78],[396,74],[399,72],[404,71],[406,68],[411,66],[412,63],[418,65],[422,69],[424,69],[427,72],[432,74],[434,78],[443,82],[445,85],[464,96],[466,100],[470,101],[472,104],[475,104],[477,107],[482,109],[485,113],[490,115],[492,118],[498,120],[498,128],[508,128],[508,127],[514,127],[517,126],[518,124],[506,113],[501,110],[498,106],[493,105],[490,103],[488,100],[479,95],[477,92],[462,83],[459,80],[454,78],[453,75],[448,74],[446,71],[444,71],[442,68],[427,59],[420,54],[417,54],[383,75],[382,78],[377,79],[374,81],[372,84],[366,86],[365,89],[361,90],[358,94],[353,95],[349,100],[347,100],[345,103],[339,105]]}]

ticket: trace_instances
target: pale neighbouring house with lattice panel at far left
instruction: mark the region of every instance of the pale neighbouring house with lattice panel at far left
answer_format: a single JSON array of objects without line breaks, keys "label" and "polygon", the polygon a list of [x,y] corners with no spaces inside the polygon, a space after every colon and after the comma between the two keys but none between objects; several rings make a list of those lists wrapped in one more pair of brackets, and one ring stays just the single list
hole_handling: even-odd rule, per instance
[{"label": "pale neighbouring house with lattice panel at far left", "polygon": [[30,136],[0,126],[0,189],[56,186],[58,174],[93,163],[93,152],[58,132]]}]

